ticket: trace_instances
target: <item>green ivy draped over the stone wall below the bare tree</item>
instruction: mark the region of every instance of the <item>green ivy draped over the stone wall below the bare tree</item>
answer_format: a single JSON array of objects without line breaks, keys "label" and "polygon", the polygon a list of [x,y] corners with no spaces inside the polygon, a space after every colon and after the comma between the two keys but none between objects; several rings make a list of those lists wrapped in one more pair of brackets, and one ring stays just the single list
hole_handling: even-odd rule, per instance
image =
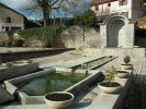
[{"label": "green ivy draped over the stone wall below the bare tree", "polygon": [[34,27],[20,31],[19,34],[26,40],[37,39],[46,46],[48,43],[52,43],[55,36],[58,36],[66,28],[66,26]]}]

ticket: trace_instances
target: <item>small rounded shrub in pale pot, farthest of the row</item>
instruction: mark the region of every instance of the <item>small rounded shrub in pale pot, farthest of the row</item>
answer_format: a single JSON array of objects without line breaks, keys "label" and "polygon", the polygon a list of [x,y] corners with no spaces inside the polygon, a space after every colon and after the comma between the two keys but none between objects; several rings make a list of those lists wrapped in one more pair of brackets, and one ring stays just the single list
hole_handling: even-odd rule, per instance
[{"label": "small rounded shrub in pale pot, farthest of the row", "polygon": [[132,64],[130,64],[131,57],[126,55],[123,58],[123,61],[124,61],[125,64],[121,64],[122,70],[132,70],[133,66],[132,66]]}]

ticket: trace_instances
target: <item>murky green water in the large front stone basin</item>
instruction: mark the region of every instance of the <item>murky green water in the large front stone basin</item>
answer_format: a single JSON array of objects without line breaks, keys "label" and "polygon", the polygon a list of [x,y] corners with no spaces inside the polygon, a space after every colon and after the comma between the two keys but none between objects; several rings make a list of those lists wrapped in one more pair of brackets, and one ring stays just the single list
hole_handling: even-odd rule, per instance
[{"label": "murky green water in the large front stone basin", "polygon": [[20,86],[20,90],[30,96],[43,96],[50,92],[65,90],[85,77],[87,75],[79,73],[53,73],[27,82],[25,85]]}]

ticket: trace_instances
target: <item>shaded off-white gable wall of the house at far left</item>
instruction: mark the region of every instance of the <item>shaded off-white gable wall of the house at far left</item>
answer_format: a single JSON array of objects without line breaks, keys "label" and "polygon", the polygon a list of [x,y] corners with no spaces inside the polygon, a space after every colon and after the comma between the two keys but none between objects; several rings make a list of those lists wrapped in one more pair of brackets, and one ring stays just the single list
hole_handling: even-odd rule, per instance
[{"label": "shaded off-white gable wall of the house at far left", "polygon": [[[7,17],[11,17],[11,23],[7,23]],[[2,28],[2,26],[9,26],[9,31],[11,31],[12,26],[24,29],[24,17],[11,10],[0,7],[0,32],[5,32],[5,28]]]}]

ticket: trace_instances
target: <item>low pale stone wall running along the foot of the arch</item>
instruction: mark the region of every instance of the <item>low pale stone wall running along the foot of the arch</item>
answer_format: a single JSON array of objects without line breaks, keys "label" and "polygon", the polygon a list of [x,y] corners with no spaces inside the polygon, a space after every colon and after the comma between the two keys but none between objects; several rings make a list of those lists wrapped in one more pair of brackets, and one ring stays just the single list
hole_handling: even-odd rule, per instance
[{"label": "low pale stone wall running along the foot of the arch", "polygon": [[131,57],[145,58],[145,48],[86,48],[82,51],[83,56],[117,56],[124,57],[130,55]]}]

